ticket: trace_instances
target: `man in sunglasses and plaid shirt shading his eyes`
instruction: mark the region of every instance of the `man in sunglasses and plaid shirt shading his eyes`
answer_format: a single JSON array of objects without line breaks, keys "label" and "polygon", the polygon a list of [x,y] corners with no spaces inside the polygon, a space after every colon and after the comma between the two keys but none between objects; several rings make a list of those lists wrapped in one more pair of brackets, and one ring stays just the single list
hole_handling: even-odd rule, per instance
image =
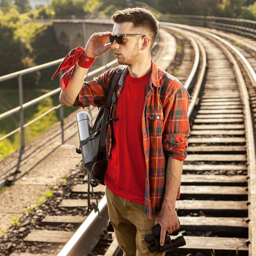
[{"label": "man in sunglasses and plaid shirt shading his eyes", "polygon": [[118,63],[128,65],[117,90],[119,119],[108,126],[106,140],[110,222],[125,256],[164,255],[150,253],[144,237],[159,223],[163,245],[166,231],[171,234],[179,228],[175,202],[190,134],[189,94],[151,59],[158,25],[149,11],[116,11],[112,21],[112,33],[94,33],[88,40],[60,101],[68,106],[103,106],[113,69],[84,82],[94,58],[112,48]]}]

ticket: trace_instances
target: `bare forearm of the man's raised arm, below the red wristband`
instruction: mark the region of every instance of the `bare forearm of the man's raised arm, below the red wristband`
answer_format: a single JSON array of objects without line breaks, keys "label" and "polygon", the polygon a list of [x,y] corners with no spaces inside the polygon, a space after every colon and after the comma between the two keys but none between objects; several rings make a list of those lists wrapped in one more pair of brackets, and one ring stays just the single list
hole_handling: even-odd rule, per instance
[{"label": "bare forearm of the man's raised arm, below the red wristband", "polygon": [[65,91],[61,90],[60,102],[67,106],[73,106],[77,95],[79,94],[82,86],[83,79],[87,73],[88,68],[80,67],[76,64],[74,72],[70,78],[67,89]]}]

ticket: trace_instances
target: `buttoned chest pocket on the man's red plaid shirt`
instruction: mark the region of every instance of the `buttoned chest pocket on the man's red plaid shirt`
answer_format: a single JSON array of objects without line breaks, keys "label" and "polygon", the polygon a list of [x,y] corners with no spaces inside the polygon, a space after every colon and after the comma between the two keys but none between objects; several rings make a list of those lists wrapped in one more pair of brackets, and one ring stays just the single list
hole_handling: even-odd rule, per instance
[{"label": "buttoned chest pocket on the man's red plaid shirt", "polygon": [[164,113],[162,109],[148,109],[148,131],[150,136],[162,136]]}]

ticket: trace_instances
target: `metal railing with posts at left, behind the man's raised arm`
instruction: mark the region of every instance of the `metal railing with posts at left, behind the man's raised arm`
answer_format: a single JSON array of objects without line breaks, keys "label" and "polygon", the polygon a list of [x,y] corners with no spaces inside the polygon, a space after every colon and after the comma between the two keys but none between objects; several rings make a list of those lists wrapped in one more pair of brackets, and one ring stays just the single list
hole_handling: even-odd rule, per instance
[{"label": "metal railing with posts at left, behind the man's raised arm", "polygon": [[[42,65],[38,65],[36,67],[31,67],[31,68],[27,68],[25,70],[21,70],[18,72],[14,72],[11,74],[7,74],[4,76],[0,76],[0,82],[2,81],[7,81],[9,79],[13,79],[13,78],[18,78],[18,93],[19,93],[19,106],[16,108],[13,108],[11,110],[8,110],[2,114],[0,114],[0,120],[9,117],[11,115],[14,115],[16,113],[19,113],[20,116],[20,127],[18,127],[17,129],[9,132],[8,134],[0,137],[0,141],[2,141],[3,139],[8,138],[9,136],[15,134],[16,132],[20,132],[20,146],[24,147],[25,146],[25,132],[24,129],[33,124],[34,122],[38,121],[40,118],[44,117],[45,115],[49,114],[50,112],[60,109],[60,121],[61,121],[61,137],[62,137],[62,144],[64,144],[64,124],[63,124],[63,119],[64,119],[64,108],[62,104],[58,104],[57,106],[54,106],[53,108],[47,110],[46,112],[44,112],[42,115],[36,117],[35,119],[25,123],[25,118],[24,118],[24,110],[26,108],[29,108],[33,105],[35,105],[36,103],[42,101],[43,99],[46,99],[48,97],[52,97],[56,94],[58,94],[61,91],[61,88],[56,88],[55,90],[52,90],[51,92],[48,92],[46,94],[43,94],[42,96],[33,99],[31,101],[28,101],[26,103],[24,103],[24,94],[23,94],[23,82],[22,82],[22,77],[25,74],[29,74],[38,70],[43,70],[45,68],[48,67],[52,67],[52,66],[56,66],[58,64],[61,63],[61,61],[63,61],[64,58],[58,59],[56,61],[51,61],[49,63],[45,63]],[[90,78],[92,76],[97,76],[98,74],[101,74],[103,71],[105,71],[106,69],[114,66],[117,63],[117,60],[111,61],[110,63],[103,65],[101,67],[99,67],[96,70],[93,70],[92,72],[89,72],[86,77]],[[59,76],[61,78],[61,76]],[[60,81],[60,85],[61,85],[61,81]]]}]

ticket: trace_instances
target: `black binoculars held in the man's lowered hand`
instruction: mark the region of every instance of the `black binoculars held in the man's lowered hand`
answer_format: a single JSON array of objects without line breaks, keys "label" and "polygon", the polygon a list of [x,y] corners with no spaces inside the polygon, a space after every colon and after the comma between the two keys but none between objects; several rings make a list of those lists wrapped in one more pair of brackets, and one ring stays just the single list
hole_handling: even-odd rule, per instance
[{"label": "black binoculars held in the man's lowered hand", "polygon": [[145,236],[146,242],[149,244],[148,249],[150,252],[155,252],[156,250],[159,250],[159,252],[166,252],[171,251],[175,248],[181,247],[183,245],[186,245],[186,241],[182,234],[179,234],[175,236],[173,239],[168,235],[167,231],[164,238],[164,245],[160,245],[160,232],[161,232],[161,226],[159,223],[155,225],[152,229],[152,234],[149,234]]}]

